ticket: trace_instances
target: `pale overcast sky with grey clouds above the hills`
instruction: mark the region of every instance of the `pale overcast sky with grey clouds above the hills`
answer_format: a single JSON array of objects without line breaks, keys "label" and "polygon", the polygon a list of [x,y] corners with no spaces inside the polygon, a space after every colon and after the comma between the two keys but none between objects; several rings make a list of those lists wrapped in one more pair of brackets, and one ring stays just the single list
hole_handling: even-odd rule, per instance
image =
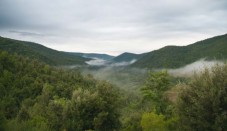
[{"label": "pale overcast sky with grey clouds above the hills", "polygon": [[227,33],[227,0],[0,0],[0,36],[69,52],[144,53]]}]

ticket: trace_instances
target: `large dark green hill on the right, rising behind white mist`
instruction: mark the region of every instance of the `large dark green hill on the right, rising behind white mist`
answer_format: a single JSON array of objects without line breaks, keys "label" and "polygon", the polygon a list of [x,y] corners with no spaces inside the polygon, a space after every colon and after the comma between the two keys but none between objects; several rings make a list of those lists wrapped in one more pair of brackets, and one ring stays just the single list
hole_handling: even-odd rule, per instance
[{"label": "large dark green hill on the right, rising behind white mist", "polygon": [[133,67],[178,68],[199,59],[227,59],[227,34],[196,42],[188,46],[166,46],[146,53]]}]

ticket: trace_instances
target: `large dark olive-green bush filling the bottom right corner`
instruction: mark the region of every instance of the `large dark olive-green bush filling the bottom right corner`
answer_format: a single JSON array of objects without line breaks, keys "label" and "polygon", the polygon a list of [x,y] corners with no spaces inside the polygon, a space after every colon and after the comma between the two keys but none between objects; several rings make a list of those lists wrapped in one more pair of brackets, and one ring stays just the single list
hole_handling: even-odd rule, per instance
[{"label": "large dark olive-green bush filling the bottom right corner", "polygon": [[227,65],[206,69],[182,88],[178,102],[181,130],[227,130]]}]

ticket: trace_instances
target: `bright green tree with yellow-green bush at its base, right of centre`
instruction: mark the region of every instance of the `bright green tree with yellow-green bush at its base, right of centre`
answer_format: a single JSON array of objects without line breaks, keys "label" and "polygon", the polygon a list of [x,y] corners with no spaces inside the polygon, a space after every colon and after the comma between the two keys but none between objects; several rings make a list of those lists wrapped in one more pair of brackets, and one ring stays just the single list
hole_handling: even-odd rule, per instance
[{"label": "bright green tree with yellow-green bush at its base, right of centre", "polygon": [[177,117],[174,105],[167,99],[166,91],[171,86],[166,71],[150,72],[144,88],[141,89],[144,100],[151,102],[151,111],[142,114],[141,126],[144,131],[176,130]]}]

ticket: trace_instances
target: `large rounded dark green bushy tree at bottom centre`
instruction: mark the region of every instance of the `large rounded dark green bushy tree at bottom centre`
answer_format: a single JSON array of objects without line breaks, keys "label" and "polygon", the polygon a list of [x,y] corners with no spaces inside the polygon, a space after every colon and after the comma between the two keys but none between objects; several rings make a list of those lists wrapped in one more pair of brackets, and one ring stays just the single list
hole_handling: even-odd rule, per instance
[{"label": "large rounded dark green bushy tree at bottom centre", "polygon": [[116,91],[107,83],[97,85],[96,91],[75,90],[72,96],[74,129],[114,130],[120,127],[117,119]]}]

